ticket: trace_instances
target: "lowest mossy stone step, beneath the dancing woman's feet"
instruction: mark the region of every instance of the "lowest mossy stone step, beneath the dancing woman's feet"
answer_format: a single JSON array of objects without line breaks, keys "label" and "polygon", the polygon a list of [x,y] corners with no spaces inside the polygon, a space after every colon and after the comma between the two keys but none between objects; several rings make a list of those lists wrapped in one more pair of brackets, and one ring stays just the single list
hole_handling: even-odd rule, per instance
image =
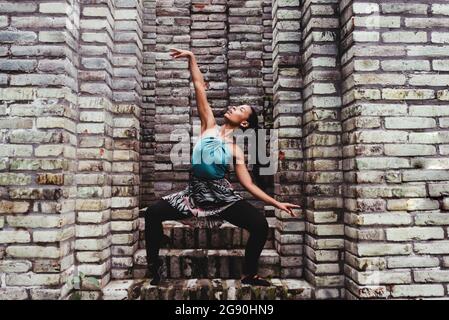
[{"label": "lowest mossy stone step, beneath the dancing woman's feet", "polygon": [[114,280],[103,289],[103,300],[306,300],[313,287],[300,279],[271,279],[272,286],[249,286],[234,279]]}]

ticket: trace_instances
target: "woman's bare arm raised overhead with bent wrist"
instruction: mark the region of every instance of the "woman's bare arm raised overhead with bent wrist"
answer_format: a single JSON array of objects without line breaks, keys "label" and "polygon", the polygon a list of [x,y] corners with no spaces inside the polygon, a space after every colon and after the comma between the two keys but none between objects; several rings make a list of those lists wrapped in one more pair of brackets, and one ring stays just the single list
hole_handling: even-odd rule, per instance
[{"label": "woman's bare arm raised overhead with bent wrist", "polygon": [[196,106],[201,120],[201,133],[215,126],[216,121],[212,109],[207,101],[206,84],[201,70],[198,68],[195,55],[188,50],[170,49],[173,58],[187,57],[189,61],[190,74],[195,88]]}]

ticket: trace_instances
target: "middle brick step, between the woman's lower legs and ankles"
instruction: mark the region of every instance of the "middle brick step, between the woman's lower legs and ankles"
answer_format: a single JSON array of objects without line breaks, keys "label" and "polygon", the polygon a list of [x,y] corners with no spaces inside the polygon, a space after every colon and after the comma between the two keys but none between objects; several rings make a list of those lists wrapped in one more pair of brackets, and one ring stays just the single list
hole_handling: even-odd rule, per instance
[{"label": "middle brick step, between the woman's lower legs and ankles", "polygon": [[[159,256],[164,261],[164,277],[240,279],[244,260],[244,249],[161,249]],[[146,276],[146,252],[138,250],[134,255],[134,278]],[[264,249],[259,258],[259,274],[279,277],[280,257],[276,250]]]}]

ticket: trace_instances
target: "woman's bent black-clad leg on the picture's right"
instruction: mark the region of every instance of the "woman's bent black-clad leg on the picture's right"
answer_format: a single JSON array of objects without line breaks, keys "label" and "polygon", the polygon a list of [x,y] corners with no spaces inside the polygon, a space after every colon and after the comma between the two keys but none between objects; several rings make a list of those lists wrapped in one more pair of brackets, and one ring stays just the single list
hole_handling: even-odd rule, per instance
[{"label": "woman's bent black-clad leg on the picture's right", "polygon": [[219,216],[233,225],[249,231],[243,273],[246,276],[256,275],[259,257],[268,237],[267,218],[247,200],[237,201],[219,213]]}]

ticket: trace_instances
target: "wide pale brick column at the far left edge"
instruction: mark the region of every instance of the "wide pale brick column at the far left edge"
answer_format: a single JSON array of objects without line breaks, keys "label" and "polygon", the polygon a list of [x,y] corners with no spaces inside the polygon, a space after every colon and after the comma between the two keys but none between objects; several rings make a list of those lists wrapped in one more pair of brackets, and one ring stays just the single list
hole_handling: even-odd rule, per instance
[{"label": "wide pale brick column at the far left edge", "polygon": [[0,4],[0,299],[70,292],[78,17],[77,2]]}]

